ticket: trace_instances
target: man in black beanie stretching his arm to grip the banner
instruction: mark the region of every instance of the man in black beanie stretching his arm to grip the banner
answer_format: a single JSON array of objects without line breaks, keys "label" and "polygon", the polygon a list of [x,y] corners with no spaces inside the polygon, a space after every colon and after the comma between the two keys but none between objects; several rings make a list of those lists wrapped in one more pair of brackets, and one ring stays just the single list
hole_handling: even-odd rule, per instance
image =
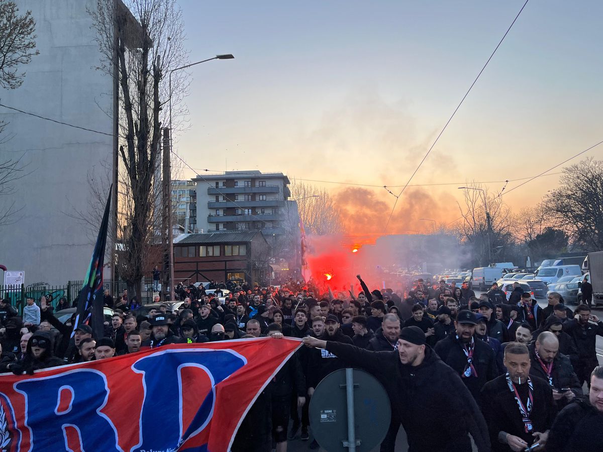
[{"label": "man in black beanie stretching his arm to grip the banner", "polygon": [[[384,386],[392,414],[382,452],[394,451],[400,424],[411,451],[469,452],[469,434],[479,452],[490,450],[487,426],[475,400],[458,374],[426,344],[420,328],[402,328],[398,348],[392,351],[362,350],[314,337],[303,342],[338,356],[347,366],[364,369]],[[429,428],[426,421],[437,428]]]}]

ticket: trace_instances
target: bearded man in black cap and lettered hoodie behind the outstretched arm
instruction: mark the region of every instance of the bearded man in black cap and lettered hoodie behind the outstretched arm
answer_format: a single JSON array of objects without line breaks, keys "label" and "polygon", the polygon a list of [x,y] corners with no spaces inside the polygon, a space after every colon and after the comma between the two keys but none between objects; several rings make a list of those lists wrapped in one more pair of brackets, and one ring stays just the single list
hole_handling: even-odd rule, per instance
[{"label": "bearded man in black cap and lettered hoodie behind the outstretched arm", "polygon": [[[316,319],[314,319],[316,320]],[[314,322],[314,321],[313,321]],[[336,316],[329,314],[326,322],[324,322],[324,333],[320,336],[324,341],[338,342],[339,344],[352,345],[352,339],[346,334],[339,331],[339,321]],[[398,327],[399,327],[398,322]],[[314,323],[312,323],[314,327]],[[324,377],[329,375],[331,372],[335,372],[338,369],[345,368],[346,365],[343,360],[339,359],[333,353],[329,353],[327,350],[311,350],[310,359],[308,362],[308,374],[306,375],[308,384],[308,396],[312,398],[314,394],[314,388],[323,380]],[[311,449],[318,448],[318,442],[316,439],[310,444]]]}]

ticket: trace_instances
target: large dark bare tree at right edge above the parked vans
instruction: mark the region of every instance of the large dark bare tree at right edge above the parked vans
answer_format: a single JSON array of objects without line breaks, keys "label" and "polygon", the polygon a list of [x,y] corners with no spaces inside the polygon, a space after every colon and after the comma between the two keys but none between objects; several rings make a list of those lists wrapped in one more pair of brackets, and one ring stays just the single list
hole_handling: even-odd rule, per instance
[{"label": "large dark bare tree at right edge above the parked vans", "polygon": [[551,221],[575,245],[603,250],[603,160],[590,157],[564,168],[560,186],[545,201]]}]

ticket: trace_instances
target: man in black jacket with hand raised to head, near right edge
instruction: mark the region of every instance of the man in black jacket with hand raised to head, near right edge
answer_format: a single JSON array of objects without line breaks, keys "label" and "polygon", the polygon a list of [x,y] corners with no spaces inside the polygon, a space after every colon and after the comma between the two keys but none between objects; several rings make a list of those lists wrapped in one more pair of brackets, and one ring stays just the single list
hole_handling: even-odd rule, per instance
[{"label": "man in black jacket with hand raised to head, near right edge", "polygon": [[575,371],[580,385],[586,381],[590,385],[590,374],[598,365],[596,338],[603,336],[603,322],[590,313],[590,307],[581,304],[576,307],[575,318],[563,325],[563,331],[569,334],[578,348],[578,362]]}]

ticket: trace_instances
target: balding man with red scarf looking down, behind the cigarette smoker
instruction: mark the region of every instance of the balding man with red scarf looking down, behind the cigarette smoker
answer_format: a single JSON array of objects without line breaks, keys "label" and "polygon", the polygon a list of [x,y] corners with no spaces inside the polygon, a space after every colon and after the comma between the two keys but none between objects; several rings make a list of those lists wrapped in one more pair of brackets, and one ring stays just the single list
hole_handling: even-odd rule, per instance
[{"label": "balding man with red scarf looking down, behind the cigarette smoker", "polygon": [[558,409],[565,407],[576,395],[582,395],[582,388],[569,357],[559,353],[559,340],[551,331],[538,334],[534,345],[530,345],[532,365],[529,374],[542,378],[553,390],[553,398]]}]

